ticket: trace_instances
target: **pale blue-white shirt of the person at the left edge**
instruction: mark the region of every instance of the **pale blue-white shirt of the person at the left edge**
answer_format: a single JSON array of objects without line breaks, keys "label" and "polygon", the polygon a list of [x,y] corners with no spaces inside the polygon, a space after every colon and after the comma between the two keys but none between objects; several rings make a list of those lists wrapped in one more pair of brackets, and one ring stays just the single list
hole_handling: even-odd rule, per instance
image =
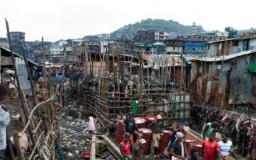
[{"label": "pale blue-white shirt of the person at the left edge", "polygon": [[6,148],[6,126],[10,122],[10,114],[0,106],[0,150]]}]

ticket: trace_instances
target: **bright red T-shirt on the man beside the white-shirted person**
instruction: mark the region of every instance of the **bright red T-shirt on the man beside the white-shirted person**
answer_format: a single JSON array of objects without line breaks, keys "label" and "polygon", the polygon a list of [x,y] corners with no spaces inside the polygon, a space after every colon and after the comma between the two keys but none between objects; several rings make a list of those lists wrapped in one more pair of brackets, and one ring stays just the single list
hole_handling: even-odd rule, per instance
[{"label": "bright red T-shirt on the man beside the white-shirted person", "polygon": [[217,141],[204,140],[202,147],[204,148],[204,160],[215,160],[217,153],[220,152],[220,146]]}]

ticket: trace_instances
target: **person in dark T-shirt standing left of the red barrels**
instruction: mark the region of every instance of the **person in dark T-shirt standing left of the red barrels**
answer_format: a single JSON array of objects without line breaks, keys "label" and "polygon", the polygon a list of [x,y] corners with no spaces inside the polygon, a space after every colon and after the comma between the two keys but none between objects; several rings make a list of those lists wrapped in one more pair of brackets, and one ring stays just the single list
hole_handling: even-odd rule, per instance
[{"label": "person in dark T-shirt standing left of the red barrels", "polygon": [[123,129],[124,132],[129,132],[131,134],[130,140],[133,145],[133,141],[136,138],[134,130],[138,131],[138,128],[135,125],[135,120],[132,118],[132,112],[129,112],[128,117],[124,120]]}]

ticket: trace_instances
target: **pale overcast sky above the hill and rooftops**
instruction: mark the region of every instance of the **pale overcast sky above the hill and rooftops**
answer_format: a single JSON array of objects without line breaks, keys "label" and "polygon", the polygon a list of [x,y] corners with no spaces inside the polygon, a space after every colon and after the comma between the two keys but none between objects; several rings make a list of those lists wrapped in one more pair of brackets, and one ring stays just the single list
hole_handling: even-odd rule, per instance
[{"label": "pale overcast sky above the hill and rooftops", "polygon": [[141,19],[173,19],[180,24],[196,22],[205,30],[256,28],[253,0],[2,0],[0,36],[23,31],[26,41],[56,41],[84,35],[111,33]]}]

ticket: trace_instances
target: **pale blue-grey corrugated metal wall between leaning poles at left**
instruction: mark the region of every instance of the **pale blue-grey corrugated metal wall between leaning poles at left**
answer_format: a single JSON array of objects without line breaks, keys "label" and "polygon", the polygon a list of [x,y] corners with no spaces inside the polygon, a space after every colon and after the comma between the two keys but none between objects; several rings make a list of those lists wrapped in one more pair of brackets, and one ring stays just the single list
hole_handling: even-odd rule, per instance
[{"label": "pale blue-grey corrugated metal wall between leaning poles at left", "polygon": [[28,81],[28,71],[25,65],[25,61],[20,57],[15,57],[15,65],[17,68],[17,74],[19,76],[19,81],[25,94],[32,95],[30,83]]}]

